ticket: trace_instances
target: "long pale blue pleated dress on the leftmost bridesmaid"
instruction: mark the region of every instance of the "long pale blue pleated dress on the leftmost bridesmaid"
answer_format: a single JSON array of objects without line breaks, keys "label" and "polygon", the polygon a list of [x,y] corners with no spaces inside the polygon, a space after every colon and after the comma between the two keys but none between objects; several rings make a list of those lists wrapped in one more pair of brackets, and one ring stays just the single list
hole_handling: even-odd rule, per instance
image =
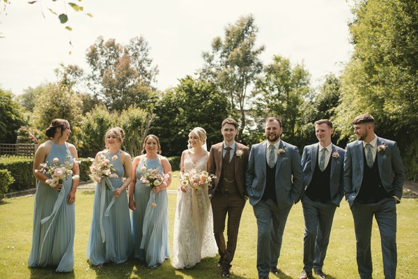
[{"label": "long pale blue pleated dress on the leftmost bridesmaid", "polygon": [[[72,162],[67,144],[49,141],[51,150],[45,162],[59,165],[65,160]],[[29,255],[30,267],[56,266],[58,272],[74,269],[75,204],[67,203],[72,188],[72,175],[63,182],[61,190],[38,181],[33,209],[32,248]]]}]

